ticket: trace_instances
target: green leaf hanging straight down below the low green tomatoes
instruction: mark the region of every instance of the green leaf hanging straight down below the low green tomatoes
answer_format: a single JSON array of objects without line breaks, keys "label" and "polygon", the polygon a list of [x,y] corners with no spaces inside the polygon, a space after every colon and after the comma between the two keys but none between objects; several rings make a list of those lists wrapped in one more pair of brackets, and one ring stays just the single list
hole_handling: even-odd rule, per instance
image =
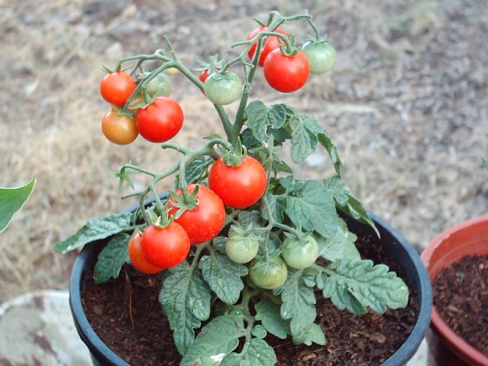
[{"label": "green leaf hanging straight down below the low green tomatoes", "polygon": [[287,281],[279,288],[283,300],[280,314],[283,319],[291,319],[290,331],[295,344],[307,340],[310,328],[317,316],[314,289],[307,287],[301,274],[302,270],[294,272],[289,270]]}]

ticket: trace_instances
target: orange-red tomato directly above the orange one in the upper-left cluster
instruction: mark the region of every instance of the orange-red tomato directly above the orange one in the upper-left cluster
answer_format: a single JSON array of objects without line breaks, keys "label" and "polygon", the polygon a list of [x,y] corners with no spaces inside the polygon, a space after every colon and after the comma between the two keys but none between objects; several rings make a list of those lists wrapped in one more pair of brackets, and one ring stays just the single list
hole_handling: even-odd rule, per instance
[{"label": "orange-red tomato directly above the orange one in the upper-left cluster", "polygon": [[100,93],[107,102],[121,107],[135,89],[135,81],[128,73],[118,71],[108,73],[100,82]]}]

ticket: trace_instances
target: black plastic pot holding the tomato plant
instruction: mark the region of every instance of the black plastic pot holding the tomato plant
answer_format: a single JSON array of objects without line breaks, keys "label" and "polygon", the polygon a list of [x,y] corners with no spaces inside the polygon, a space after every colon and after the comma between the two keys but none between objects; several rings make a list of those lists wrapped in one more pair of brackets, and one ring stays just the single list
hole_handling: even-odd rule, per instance
[{"label": "black plastic pot holding the tomato plant", "polygon": [[[415,249],[398,231],[390,227],[389,224],[375,215],[371,216],[381,234],[379,243],[384,245],[383,252],[387,257],[393,258],[392,261],[395,261],[402,272],[405,273],[406,277],[404,280],[410,289],[413,289],[412,293],[415,293],[420,305],[418,319],[411,335],[409,335],[406,342],[388,360],[381,364],[382,366],[403,366],[413,357],[415,351],[417,351],[429,326],[432,309],[431,283],[429,275],[427,275],[427,270],[422,264],[422,261],[420,261],[420,257]],[[368,225],[361,224],[349,218],[346,218],[346,221],[349,229],[355,234],[376,235]],[[88,346],[92,355],[93,365],[128,366],[128,363],[117,356],[100,340],[93,328],[91,328],[82,308],[81,291],[83,279],[86,275],[89,275],[94,261],[96,261],[98,253],[102,249],[102,245],[100,243],[98,244],[86,245],[75,261],[70,280],[70,307],[79,337]]]}]

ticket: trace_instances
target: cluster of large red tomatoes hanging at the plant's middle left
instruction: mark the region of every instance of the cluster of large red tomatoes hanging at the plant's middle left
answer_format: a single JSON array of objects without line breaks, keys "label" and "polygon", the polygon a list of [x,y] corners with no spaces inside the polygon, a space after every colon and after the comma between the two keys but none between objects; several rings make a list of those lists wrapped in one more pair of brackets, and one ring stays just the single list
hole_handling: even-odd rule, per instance
[{"label": "cluster of large red tomatoes hanging at the plant's middle left", "polygon": [[[220,233],[225,206],[246,208],[261,198],[266,190],[266,171],[250,156],[238,167],[225,165],[219,158],[209,171],[208,185],[199,185],[195,208],[184,211],[166,227],[150,224],[142,233],[132,236],[129,243],[132,266],[143,273],[158,273],[180,264],[188,256],[190,245],[205,243]],[[195,184],[188,185],[190,193],[195,188]],[[182,195],[181,190],[176,190],[176,195]],[[172,199],[166,208],[169,215],[178,211]]]}]

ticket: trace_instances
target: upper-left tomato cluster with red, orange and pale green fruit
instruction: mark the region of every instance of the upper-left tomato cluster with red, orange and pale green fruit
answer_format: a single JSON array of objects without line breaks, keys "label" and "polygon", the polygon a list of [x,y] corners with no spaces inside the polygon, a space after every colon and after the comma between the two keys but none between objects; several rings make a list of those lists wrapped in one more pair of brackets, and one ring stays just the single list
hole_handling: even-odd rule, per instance
[{"label": "upper-left tomato cluster with red, orange and pale green fruit", "polygon": [[[134,79],[124,71],[108,73],[100,82],[102,97],[115,107],[123,107],[135,89]],[[103,117],[103,134],[120,145],[130,144],[139,134],[150,142],[168,141],[183,126],[183,109],[169,98],[170,92],[169,78],[164,74],[155,76],[146,86],[148,98],[155,100],[145,106],[144,96],[139,91],[130,100],[127,113],[113,108]]]}]

